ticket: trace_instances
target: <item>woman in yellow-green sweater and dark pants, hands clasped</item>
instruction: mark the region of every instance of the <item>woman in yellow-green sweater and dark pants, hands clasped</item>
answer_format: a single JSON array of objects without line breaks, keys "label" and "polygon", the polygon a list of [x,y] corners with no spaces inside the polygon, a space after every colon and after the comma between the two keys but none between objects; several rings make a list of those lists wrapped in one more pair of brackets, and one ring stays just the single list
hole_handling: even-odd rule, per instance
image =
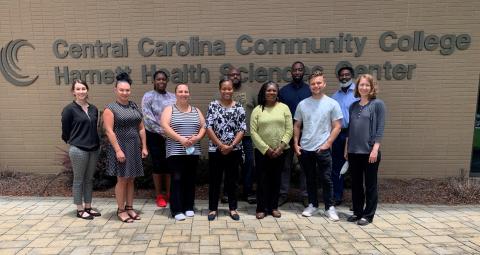
[{"label": "woman in yellow-green sweater and dark pants, hands clasped", "polygon": [[257,219],[266,214],[280,218],[278,196],[280,176],[288,142],[292,138],[292,114],[278,101],[278,84],[268,81],[258,92],[258,106],[250,117],[250,134],[255,144],[257,171]]}]

